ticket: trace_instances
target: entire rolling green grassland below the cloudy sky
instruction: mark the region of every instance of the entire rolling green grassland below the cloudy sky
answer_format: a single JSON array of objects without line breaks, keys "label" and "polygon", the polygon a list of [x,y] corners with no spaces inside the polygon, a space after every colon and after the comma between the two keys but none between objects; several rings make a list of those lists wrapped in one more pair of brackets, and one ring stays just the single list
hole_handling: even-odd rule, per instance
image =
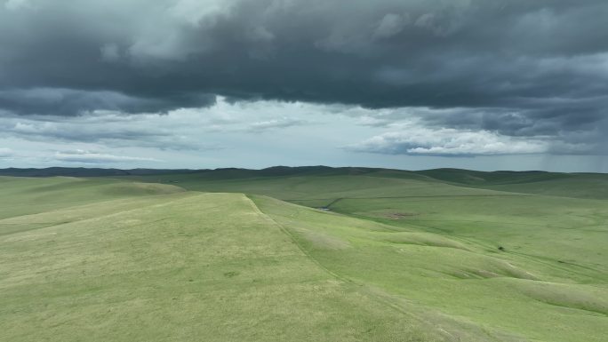
[{"label": "entire rolling green grassland below the cloudy sky", "polygon": [[606,182],[0,177],[0,340],[605,341]]}]

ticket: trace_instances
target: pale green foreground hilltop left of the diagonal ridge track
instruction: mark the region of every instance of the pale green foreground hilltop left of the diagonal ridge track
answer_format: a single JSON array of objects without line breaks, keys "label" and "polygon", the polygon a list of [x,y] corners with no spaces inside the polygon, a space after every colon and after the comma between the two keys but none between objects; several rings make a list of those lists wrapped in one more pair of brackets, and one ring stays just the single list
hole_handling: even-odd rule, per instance
[{"label": "pale green foreground hilltop left of the diagonal ridge track", "polygon": [[[61,180],[4,188],[45,208],[43,192],[81,189]],[[89,200],[107,186],[87,187]],[[141,195],[0,229],[0,340],[449,340],[327,272],[244,195]]]}]

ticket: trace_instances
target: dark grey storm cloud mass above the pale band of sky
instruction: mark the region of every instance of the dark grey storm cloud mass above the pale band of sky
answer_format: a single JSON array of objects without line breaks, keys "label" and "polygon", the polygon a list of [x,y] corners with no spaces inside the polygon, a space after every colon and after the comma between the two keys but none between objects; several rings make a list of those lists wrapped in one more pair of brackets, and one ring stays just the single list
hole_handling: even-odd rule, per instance
[{"label": "dark grey storm cloud mass above the pale band of sky", "polygon": [[11,0],[0,107],[164,112],[221,94],[450,109],[423,120],[512,136],[593,131],[605,18],[605,0]]}]

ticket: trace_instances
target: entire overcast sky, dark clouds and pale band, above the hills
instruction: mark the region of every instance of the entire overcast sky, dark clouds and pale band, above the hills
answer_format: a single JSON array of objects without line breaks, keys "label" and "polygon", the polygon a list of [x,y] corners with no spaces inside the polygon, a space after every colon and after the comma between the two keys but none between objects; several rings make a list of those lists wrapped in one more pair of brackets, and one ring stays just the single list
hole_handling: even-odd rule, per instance
[{"label": "entire overcast sky, dark clouds and pale band, above the hills", "polygon": [[608,172],[605,0],[0,0],[0,168]]}]

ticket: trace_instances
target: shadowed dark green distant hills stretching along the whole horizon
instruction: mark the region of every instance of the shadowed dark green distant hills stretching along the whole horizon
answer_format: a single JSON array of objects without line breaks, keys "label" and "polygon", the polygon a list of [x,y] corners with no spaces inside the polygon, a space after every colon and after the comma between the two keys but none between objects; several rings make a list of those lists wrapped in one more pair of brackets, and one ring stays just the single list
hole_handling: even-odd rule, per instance
[{"label": "shadowed dark green distant hills stretching along the whole horizon", "polygon": [[[157,170],[157,169],[101,169],[61,168],[0,169],[0,176],[17,177],[111,177],[136,179],[153,183],[180,183],[180,187],[198,191],[248,192],[276,195],[288,199],[289,194],[317,194],[332,188],[336,194],[343,191],[378,189],[387,186],[389,179],[406,179],[421,182],[444,183],[457,187],[498,190],[513,193],[554,195],[575,198],[608,199],[608,174],[563,173],[547,171],[470,171],[462,169],[433,169],[404,171],[381,168],[328,166],[273,166],[261,170],[221,168],[215,170]],[[322,178],[322,179],[316,179]],[[283,179],[283,180],[282,180]],[[290,180],[291,179],[291,180]],[[376,179],[376,180],[374,180]],[[314,187],[299,186],[300,183]],[[390,183],[390,192],[409,191]],[[322,187],[322,188],[316,188]],[[356,190],[356,191],[359,191]],[[284,193],[277,195],[273,191]],[[380,190],[378,190],[380,191]],[[388,191],[388,190],[387,190]]]}]

